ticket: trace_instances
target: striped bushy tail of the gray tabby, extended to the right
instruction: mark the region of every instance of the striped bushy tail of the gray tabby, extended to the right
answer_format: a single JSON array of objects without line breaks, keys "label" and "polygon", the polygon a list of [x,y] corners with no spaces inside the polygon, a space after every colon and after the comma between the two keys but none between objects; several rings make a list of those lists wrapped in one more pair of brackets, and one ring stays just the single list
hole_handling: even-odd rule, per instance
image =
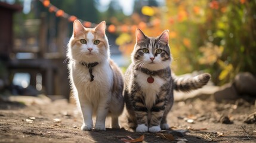
[{"label": "striped bushy tail of the gray tabby, extended to the right", "polygon": [[176,77],[172,74],[172,80],[174,82],[175,91],[189,92],[194,89],[202,88],[211,79],[209,73],[199,74],[195,77]]}]

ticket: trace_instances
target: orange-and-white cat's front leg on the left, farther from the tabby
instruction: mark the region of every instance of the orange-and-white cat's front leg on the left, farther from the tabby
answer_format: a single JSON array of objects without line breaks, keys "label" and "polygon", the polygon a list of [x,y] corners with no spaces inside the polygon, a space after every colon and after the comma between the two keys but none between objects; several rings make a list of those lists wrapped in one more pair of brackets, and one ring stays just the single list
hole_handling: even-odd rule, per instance
[{"label": "orange-and-white cat's front leg on the left, farther from the tabby", "polygon": [[81,102],[80,106],[82,110],[82,116],[84,123],[81,126],[82,130],[91,130],[92,129],[92,105],[88,102]]}]

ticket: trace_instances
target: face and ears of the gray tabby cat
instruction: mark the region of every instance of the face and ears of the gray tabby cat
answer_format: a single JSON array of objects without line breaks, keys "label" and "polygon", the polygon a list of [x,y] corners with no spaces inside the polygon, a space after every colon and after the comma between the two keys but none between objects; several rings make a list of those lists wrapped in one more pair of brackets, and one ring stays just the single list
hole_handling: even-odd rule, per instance
[{"label": "face and ears of the gray tabby cat", "polygon": [[171,55],[168,30],[156,38],[147,37],[140,29],[136,30],[135,35],[136,43],[132,52],[132,62],[135,66],[149,70],[160,70],[169,66]]}]

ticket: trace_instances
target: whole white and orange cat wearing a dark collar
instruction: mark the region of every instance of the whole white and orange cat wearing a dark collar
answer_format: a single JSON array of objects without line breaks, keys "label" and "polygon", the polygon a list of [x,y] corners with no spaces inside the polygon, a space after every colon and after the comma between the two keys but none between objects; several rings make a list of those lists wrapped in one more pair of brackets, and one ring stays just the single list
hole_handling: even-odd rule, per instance
[{"label": "whole white and orange cat wearing a dark collar", "polygon": [[81,108],[82,130],[106,130],[106,116],[112,117],[112,128],[120,128],[118,116],[124,108],[121,70],[110,60],[106,23],[85,28],[79,20],[73,23],[73,35],[68,43],[69,79],[78,108]]}]

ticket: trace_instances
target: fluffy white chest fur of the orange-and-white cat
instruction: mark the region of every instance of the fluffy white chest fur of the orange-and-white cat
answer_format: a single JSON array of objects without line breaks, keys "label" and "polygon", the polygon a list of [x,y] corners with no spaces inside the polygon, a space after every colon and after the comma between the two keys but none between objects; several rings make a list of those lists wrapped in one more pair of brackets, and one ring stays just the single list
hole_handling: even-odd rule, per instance
[{"label": "fluffy white chest fur of the orange-and-white cat", "polygon": [[[78,92],[79,100],[91,102],[97,106],[98,100],[106,98],[113,85],[113,73],[108,62],[99,63],[92,68],[94,80],[91,82],[90,72],[87,67],[73,63],[70,70],[74,88]],[[111,97],[110,97],[111,98]]]}]

